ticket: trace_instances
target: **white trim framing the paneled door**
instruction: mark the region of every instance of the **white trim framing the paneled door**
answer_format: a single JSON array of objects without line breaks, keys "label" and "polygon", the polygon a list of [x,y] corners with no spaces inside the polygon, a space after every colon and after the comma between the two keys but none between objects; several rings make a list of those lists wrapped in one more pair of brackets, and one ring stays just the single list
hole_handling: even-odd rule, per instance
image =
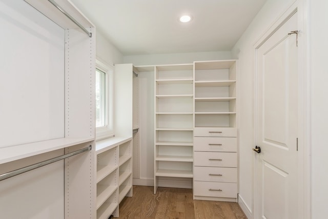
[{"label": "white trim framing the paneled door", "polygon": [[[299,167],[298,167],[298,216],[297,218],[311,218],[311,159],[310,159],[310,70],[309,70],[309,37],[308,37],[308,25],[307,17],[309,14],[309,0],[297,0],[294,1],[290,7],[288,7],[282,15],[280,15],[277,20],[268,28],[267,31],[254,43],[254,57],[255,66],[257,60],[257,49],[296,11],[298,12],[298,30],[299,41],[298,41],[298,73],[299,73]],[[302,38],[303,37],[303,38]],[[255,113],[256,113],[256,85],[257,85],[257,72],[256,68],[254,71],[255,79]],[[256,115],[256,114],[255,114]],[[256,124],[256,116],[254,116],[254,123]],[[254,132],[254,141],[256,144],[256,129]],[[255,145],[254,144],[254,145]],[[253,183],[253,217],[256,218],[256,212],[258,208],[257,197],[256,197],[256,170],[257,170],[257,160],[254,156],[254,183]]]}]

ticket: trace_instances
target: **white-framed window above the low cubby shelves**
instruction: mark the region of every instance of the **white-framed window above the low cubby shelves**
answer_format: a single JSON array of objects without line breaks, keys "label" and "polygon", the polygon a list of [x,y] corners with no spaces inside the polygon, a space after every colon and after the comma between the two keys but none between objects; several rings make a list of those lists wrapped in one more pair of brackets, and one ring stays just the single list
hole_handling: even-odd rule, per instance
[{"label": "white-framed window above the low cubby shelves", "polygon": [[114,136],[113,68],[96,61],[96,139]]}]

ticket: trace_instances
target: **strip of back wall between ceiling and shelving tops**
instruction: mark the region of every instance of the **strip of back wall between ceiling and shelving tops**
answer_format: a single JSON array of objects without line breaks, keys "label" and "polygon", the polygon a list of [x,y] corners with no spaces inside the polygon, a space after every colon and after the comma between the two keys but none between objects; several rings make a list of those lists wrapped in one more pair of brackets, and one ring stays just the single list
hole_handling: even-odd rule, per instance
[{"label": "strip of back wall between ceiling and shelving tops", "polygon": [[188,63],[193,63],[194,61],[230,59],[230,58],[231,58],[230,51],[220,51],[220,52],[128,55],[128,56],[124,56],[124,62],[132,63],[134,66],[171,65],[171,64],[188,64]]}]

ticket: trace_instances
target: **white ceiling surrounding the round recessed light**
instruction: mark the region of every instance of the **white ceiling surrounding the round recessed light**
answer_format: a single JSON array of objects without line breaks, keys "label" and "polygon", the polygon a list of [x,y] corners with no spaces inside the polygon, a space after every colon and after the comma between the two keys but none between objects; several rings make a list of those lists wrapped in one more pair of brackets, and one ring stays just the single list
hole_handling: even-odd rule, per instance
[{"label": "white ceiling surrounding the round recessed light", "polygon": [[71,0],[123,55],[230,51],[266,1]]}]

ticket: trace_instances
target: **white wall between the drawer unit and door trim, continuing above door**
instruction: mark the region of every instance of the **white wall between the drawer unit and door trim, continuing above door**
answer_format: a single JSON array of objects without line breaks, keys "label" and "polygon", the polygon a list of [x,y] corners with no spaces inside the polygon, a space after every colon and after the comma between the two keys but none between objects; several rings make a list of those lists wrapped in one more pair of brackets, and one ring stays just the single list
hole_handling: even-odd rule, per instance
[{"label": "white wall between the drawer unit and door trim, continuing above door", "polygon": [[253,206],[254,63],[253,45],[294,0],[268,0],[232,50],[238,61],[239,203],[251,217]]}]

